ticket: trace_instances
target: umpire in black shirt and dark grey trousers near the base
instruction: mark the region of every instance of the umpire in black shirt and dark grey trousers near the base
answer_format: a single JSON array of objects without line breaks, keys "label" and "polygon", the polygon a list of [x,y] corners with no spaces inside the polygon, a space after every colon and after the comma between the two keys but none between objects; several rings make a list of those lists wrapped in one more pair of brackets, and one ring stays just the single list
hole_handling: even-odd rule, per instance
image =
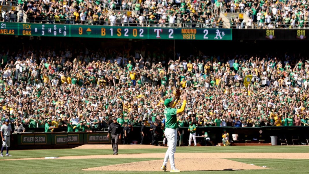
[{"label": "umpire in black shirt and dark grey trousers near the base", "polygon": [[119,139],[121,139],[122,128],[121,125],[117,123],[116,117],[114,117],[113,122],[109,124],[107,131],[108,131],[107,138],[109,138],[109,134],[112,135],[111,139],[114,151],[113,155],[118,155],[118,141]]}]

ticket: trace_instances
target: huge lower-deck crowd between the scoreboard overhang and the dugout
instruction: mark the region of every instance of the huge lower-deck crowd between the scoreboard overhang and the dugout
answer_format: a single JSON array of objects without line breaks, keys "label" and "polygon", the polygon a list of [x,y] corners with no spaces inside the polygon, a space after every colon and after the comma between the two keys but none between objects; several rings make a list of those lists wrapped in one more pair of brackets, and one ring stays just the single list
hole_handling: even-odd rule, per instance
[{"label": "huge lower-deck crowd between the scoreboard overhang and the dugout", "polygon": [[46,132],[106,128],[113,117],[121,125],[164,125],[163,101],[179,87],[188,93],[180,127],[189,122],[308,126],[309,62],[303,57],[200,53],[169,58],[145,47],[2,49],[1,121],[9,119],[18,131],[39,127]]}]

